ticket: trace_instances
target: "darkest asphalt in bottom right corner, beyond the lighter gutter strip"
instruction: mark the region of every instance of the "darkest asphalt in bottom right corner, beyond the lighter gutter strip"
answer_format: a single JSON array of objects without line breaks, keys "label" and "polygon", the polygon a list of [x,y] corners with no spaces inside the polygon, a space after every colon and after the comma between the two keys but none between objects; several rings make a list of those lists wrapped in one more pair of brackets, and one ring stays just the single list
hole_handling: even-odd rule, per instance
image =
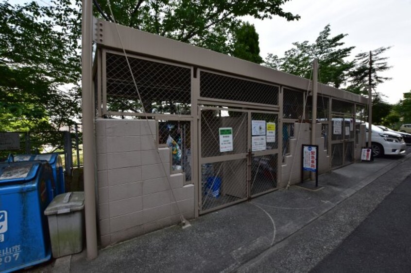
[{"label": "darkest asphalt in bottom right corner, beyond the lighter gutter strip", "polygon": [[312,272],[410,272],[411,177]]}]

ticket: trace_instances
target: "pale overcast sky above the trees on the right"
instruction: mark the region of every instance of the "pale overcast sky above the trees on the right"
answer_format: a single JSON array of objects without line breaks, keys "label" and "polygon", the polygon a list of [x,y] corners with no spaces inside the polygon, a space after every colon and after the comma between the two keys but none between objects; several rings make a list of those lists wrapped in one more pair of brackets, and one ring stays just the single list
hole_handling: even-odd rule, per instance
[{"label": "pale overcast sky above the trees on the right", "polygon": [[393,46],[384,55],[393,68],[382,74],[393,79],[377,87],[387,102],[396,103],[411,90],[411,0],[291,0],[283,7],[301,19],[247,18],[256,26],[263,59],[267,53],[282,57],[292,42],[314,42],[330,24],[331,36],[348,34],[343,41],[347,47],[356,47],[354,55]]}]

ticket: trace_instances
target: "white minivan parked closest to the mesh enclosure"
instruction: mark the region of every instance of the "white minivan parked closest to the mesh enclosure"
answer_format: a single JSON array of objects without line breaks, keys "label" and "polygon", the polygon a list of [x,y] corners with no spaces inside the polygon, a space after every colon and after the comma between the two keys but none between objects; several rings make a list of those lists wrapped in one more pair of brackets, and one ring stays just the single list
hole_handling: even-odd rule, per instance
[{"label": "white minivan parked closest to the mesh enclosure", "polygon": [[[366,137],[368,139],[368,123],[365,123],[365,126],[367,129]],[[375,157],[405,154],[406,149],[406,144],[401,135],[390,131],[384,131],[375,125],[371,125],[371,145]]]}]

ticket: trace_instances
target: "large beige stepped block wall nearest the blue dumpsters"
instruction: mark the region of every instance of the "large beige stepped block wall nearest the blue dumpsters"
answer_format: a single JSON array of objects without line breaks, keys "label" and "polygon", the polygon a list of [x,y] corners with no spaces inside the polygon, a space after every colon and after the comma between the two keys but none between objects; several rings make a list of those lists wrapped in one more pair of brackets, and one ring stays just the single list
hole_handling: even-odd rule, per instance
[{"label": "large beige stepped block wall nearest the blue dumpsters", "polygon": [[155,120],[96,120],[103,247],[178,224],[179,211],[194,217],[194,185],[185,185],[183,173],[171,174],[171,150],[157,152],[157,139]]}]

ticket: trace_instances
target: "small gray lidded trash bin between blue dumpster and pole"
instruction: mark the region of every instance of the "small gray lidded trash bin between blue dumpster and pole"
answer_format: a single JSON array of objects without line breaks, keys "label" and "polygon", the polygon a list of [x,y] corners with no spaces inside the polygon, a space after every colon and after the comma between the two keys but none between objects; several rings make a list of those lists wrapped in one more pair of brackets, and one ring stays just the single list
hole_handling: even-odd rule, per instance
[{"label": "small gray lidded trash bin between blue dumpster and pole", "polygon": [[49,220],[54,258],[83,250],[84,192],[57,195],[44,211]]}]

